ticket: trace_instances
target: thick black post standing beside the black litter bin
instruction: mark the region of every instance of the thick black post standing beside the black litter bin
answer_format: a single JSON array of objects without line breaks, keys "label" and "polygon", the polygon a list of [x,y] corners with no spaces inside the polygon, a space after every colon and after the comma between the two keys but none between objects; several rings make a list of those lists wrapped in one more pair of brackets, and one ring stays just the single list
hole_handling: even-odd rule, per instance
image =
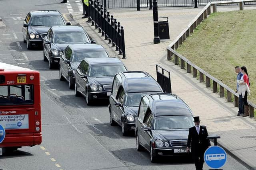
[{"label": "thick black post standing beside the black litter bin", "polygon": [[157,2],[153,0],[153,20],[154,20],[154,44],[160,43],[159,30],[158,30],[158,11]]}]

